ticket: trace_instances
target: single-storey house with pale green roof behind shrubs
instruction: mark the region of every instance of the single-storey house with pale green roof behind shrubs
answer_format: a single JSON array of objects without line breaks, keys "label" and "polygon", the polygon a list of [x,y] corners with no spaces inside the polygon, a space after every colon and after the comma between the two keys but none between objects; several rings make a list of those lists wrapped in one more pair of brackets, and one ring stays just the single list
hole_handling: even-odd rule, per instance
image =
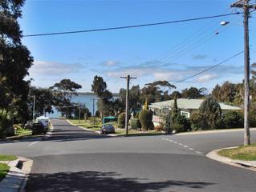
[{"label": "single-storey house with pale green roof behind shrubs", "polygon": [[[192,99],[192,98],[178,98],[177,99],[177,106],[181,110],[181,114],[185,115],[187,118],[190,118],[190,114],[194,110],[198,110],[201,106],[201,103],[205,99]],[[153,112],[152,121],[155,125],[162,121],[161,114],[168,113],[173,108],[174,100],[169,100],[165,102],[153,102],[149,105],[149,109]],[[226,110],[242,110],[242,108],[238,106],[230,106],[223,102],[220,102],[219,105],[221,106],[222,111]],[[167,112],[166,112],[167,111]]]}]

